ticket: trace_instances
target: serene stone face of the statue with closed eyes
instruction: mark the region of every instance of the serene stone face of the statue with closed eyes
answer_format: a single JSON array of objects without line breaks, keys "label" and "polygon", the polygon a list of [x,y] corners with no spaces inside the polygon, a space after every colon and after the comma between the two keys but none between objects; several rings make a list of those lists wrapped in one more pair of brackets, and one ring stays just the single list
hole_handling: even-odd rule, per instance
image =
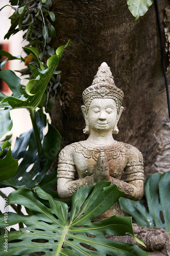
[{"label": "serene stone face of the statue with closed eyes", "polygon": [[87,113],[90,130],[110,131],[117,124],[117,109],[113,99],[93,99]]}]

